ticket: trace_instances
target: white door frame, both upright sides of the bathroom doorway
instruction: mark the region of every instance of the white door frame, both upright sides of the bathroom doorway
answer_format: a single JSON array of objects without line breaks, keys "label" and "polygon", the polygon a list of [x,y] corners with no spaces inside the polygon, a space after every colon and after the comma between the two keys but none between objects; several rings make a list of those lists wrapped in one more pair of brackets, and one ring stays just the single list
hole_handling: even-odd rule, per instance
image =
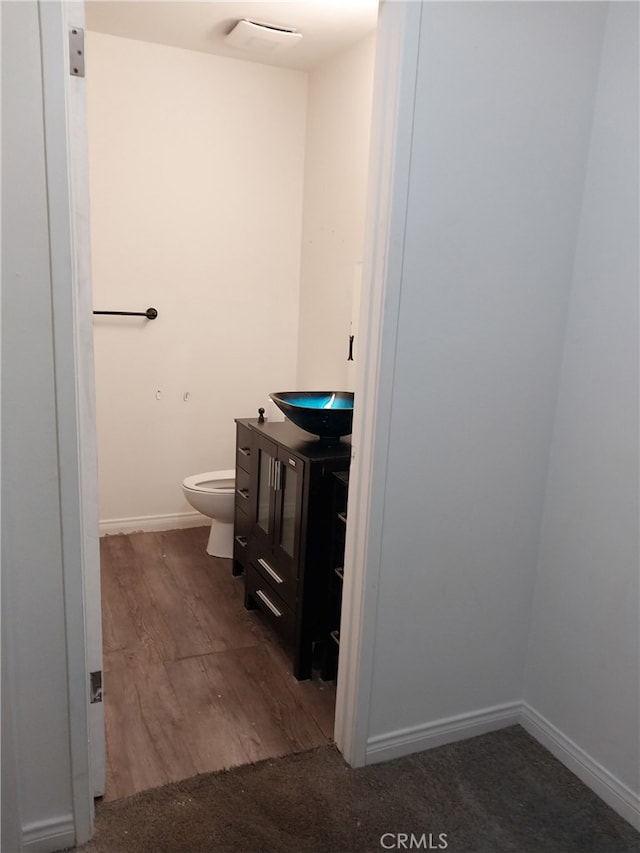
[{"label": "white door frame, both upright sides of the bathroom doorway", "polygon": [[[45,78],[50,75],[44,92],[45,116],[51,127],[47,158],[59,170],[50,197],[51,219],[58,223],[51,235],[53,250],[59,252],[56,360],[61,370],[67,371],[66,377],[75,380],[66,389],[58,389],[58,405],[69,427],[63,433],[61,469],[66,454],[70,464],[69,502],[63,527],[70,559],[65,560],[65,606],[74,820],[79,844],[90,837],[93,828],[92,762],[95,767],[97,757],[99,763],[101,751],[104,760],[104,729],[92,730],[88,703],[90,657],[98,649],[101,656],[101,648],[95,630],[100,626],[96,607],[98,486],[86,99],[84,81],[79,86],[78,78],[68,73],[66,36],[70,25],[84,28],[84,6],[76,0],[38,0],[38,4]],[[363,287],[360,308],[361,366],[352,436],[335,725],[338,748],[352,766],[367,762],[421,14],[421,2],[383,0],[378,21],[363,271],[368,286]],[[83,362],[87,354],[89,363]]]}]

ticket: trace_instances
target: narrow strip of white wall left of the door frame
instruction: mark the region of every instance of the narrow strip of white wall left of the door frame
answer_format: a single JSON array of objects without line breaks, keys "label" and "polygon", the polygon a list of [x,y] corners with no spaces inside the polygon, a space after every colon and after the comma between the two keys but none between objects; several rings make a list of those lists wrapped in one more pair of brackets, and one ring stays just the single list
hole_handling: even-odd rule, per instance
[{"label": "narrow strip of white wall left of the door frame", "polygon": [[34,851],[74,831],[37,5],[3,3],[2,36],[2,795],[18,808],[6,824],[3,813],[2,849],[13,853],[16,824]]}]

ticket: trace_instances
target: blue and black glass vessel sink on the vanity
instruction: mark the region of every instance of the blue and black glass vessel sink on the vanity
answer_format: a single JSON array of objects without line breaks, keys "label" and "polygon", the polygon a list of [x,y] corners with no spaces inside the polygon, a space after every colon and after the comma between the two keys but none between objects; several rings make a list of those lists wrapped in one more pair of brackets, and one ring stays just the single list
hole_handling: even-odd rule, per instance
[{"label": "blue and black glass vessel sink on the vanity", "polygon": [[277,391],[269,396],[292,423],[324,443],[351,434],[351,391]]}]

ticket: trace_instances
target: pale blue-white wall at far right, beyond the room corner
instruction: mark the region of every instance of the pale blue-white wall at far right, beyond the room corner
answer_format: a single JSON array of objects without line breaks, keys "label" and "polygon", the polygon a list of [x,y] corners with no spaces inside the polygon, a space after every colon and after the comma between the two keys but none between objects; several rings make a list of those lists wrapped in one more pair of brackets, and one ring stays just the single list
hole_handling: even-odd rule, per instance
[{"label": "pale blue-white wall at far right, beyond the room corner", "polygon": [[[638,6],[612,3],[549,464],[525,700],[639,793]],[[621,793],[624,793],[621,791]],[[637,808],[637,800],[636,800]]]}]

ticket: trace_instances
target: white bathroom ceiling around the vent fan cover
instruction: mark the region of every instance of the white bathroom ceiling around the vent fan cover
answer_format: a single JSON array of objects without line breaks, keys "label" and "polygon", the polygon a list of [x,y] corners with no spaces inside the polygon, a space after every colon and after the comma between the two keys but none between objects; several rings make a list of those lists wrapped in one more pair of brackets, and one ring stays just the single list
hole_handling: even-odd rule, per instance
[{"label": "white bathroom ceiling around the vent fan cover", "polygon": [[[109,35],[307,71],[376,27],[377,0],[85,0],[86,28]],[[231,47],[225,35],[241,18],[295,29],[291,48]]]}]

